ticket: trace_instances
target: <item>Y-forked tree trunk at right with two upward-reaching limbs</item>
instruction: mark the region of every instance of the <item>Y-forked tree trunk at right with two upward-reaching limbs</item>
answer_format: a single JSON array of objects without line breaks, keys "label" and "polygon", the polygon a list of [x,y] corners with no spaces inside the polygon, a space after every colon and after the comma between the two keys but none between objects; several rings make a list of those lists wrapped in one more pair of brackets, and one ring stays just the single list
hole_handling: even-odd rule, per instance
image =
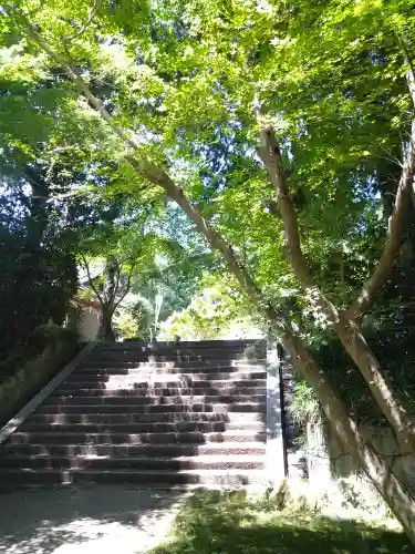
[{"label": "Y-forked tree trunk at right with two upward-reaching limbs", "polygon": [[[412,136],[415,137],[415,120],[413,122]],[[390,218],[390,233],[380,261],[372,276],[363,285],[362,291],[355,302],[341,316],[335,306],[314,283],[308,260],[302,252],[297,214],[292,205],[281,153],[272,126],[264,126],[261,130],[261,147],[258,152],[268,170],[276,191],[284,225],[284,249],[287,257],[305,293],[310,306],[340,338],[344,349],[353,359],[363,379],[366,381],[382,413],[384,413],[393,431],[396,433],[401,447],[405,450],[412,449],[414,451],[414,414],[394,391],[384,369],[367,346],[355,320],[360,320],[357,315],[364,314],[364,310],[371,305],[374,295],[390,276],[394,260],[400,252],[408,204],[411,203],[411,186],[415,168],[415,144],[411,145],[405,158],[396,192],[395,205]]]}]

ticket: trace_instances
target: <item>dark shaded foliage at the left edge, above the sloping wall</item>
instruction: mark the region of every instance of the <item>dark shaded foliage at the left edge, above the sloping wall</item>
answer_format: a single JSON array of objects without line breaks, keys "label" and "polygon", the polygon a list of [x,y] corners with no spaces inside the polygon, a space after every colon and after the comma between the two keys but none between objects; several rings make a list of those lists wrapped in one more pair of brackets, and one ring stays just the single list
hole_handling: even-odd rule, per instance
[{"label": "dark shaded foliage at the left edge, above the sloping wall", "polygon": [[29,347],[49,320],[62,324],[76,291],[72,235],[48,204],[50,183],[39,167],[8,176],[1,188],[0,360]]}]

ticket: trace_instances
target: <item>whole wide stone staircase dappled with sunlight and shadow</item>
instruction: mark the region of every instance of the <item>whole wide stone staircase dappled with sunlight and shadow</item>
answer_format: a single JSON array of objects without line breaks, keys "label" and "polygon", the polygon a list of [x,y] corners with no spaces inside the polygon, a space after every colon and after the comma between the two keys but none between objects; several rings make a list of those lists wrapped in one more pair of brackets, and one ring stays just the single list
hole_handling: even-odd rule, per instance
[{"label": "whole wide stone staircase dappled with sunlight and shadow", "polygon": [[8,486],[262,483],[264,341],[97,345],[1,447]]}]

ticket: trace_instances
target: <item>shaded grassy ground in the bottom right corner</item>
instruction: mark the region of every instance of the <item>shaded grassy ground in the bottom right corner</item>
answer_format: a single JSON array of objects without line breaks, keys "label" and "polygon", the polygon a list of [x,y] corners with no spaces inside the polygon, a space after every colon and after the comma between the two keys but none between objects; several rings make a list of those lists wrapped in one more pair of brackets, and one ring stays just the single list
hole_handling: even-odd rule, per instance
[{"label": "shaded grassy ground in the bottom right corner", "polygon": [[152,554],[409,554],[402,533],[305,509],[279,510],[243,493],[193,495],[177,516],[172,542]]}]

